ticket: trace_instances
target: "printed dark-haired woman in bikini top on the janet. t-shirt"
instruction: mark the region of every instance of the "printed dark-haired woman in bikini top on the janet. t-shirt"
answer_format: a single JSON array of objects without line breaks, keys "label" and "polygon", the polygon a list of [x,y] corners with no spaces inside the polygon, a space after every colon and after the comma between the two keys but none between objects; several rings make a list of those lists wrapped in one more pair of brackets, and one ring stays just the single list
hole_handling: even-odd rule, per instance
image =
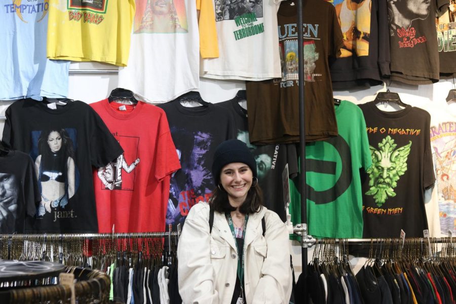
[{"label": "printed dark-haired woman in bikini top on the janet. t-shirt", "polygon": [[41,132],[35,169],[41,192],[38,216],[65,207],[75,192],[73,142],[65,129]]}]

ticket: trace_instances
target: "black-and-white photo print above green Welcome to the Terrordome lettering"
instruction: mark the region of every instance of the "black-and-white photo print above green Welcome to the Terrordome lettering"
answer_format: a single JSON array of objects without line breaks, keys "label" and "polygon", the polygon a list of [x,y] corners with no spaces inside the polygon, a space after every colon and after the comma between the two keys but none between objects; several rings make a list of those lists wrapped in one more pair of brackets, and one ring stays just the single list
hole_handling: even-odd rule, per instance
[{"label": "black-and-white photo print above green Welcome to the Terrordome lettering", "polygon": [[[263,0],[215,0],[215,21],[236,20],[236,25],[252,23],[263,17]],[[246,18],[245,21],[242,21]],[[262,24],[262,23],[261,23]]]}]

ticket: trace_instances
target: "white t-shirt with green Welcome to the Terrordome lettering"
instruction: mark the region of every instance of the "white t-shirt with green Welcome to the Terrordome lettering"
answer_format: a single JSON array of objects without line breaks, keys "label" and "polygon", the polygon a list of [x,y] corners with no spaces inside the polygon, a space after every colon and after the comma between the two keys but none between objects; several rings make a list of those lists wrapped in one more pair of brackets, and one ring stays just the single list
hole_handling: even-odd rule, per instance
[{"label": "white t-shirt with green Welcome to the Terrordome lettering", "polygon": [[214,79],[280,78],[277,11],[281,0],[214,0],[218,58],[202,61],[200,75]]}]

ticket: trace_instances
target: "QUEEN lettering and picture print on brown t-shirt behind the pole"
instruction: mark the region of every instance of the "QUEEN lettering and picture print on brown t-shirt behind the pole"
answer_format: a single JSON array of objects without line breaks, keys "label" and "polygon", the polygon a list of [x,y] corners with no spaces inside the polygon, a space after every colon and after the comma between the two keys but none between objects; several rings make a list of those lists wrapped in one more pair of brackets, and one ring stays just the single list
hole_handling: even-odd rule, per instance
[{"label": "QUEEN lettering and picture print on brown t-shirt behind the pole", "polygon": [[[320,73],[315,73],[317,60],[320,53],[317,50],[315,41],[318,37],[318,24],[303,24],[303,61],[305,81],[318,81]],[[298,83],[298,45],[296,23],[278,26],[279,30],[279,54],[282,69],[282,79],[274,80],[274,84],[280,82],[281,88],[293,87]]]}]

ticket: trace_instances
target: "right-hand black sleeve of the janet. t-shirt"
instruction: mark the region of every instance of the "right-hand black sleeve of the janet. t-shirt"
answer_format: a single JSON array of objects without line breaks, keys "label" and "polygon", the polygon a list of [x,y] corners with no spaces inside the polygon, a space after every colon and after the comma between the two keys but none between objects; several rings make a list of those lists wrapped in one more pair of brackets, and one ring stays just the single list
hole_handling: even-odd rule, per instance
[{"label": "right-hand black sleeve of the janet. t-shirt", "polygon": [[[106,166],[109,162],[116,159],[119,155],[124,153],[119,142],[109,132],[100,116],[92,108],[91,115],[93,116],[92,136],[90,138],[90,162],[92,166],[99,168]],[[138,127],[139,128],[139,127]]]}]

